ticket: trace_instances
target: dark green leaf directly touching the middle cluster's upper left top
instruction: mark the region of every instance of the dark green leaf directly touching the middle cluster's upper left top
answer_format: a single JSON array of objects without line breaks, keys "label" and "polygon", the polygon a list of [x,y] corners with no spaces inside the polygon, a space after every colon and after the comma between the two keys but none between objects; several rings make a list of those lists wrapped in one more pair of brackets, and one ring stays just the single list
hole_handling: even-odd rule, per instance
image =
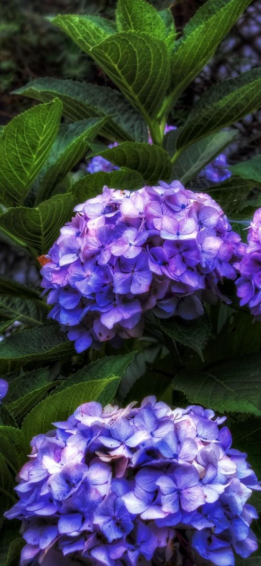
[{"label": "dark green leaf directly touching the middle cluster's upper left top", "polygon": [[109,188],[132,191],[136,188],[142,188],[145,182],[138,171],[122,168],[111,173],[99,171],[99,173],[86,175],[72,185],[71,191],[75,195],[75,200],[78,203],[83,203],[85,200],[99,195],[105,185]]}]

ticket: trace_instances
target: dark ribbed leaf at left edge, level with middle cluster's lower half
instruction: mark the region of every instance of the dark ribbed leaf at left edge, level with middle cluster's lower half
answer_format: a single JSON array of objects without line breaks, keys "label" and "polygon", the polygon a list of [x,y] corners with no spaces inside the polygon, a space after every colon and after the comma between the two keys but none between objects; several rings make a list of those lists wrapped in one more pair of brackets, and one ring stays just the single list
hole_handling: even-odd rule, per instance
[{"label": "dark ribbed leaf at left edge, level with middle cluster's lower half", "polygon": [[14,319],[28,326],[38,326],[45,321],[47,314],[48,307],[44,301],[0,295],[0,316],[3,319]]}]

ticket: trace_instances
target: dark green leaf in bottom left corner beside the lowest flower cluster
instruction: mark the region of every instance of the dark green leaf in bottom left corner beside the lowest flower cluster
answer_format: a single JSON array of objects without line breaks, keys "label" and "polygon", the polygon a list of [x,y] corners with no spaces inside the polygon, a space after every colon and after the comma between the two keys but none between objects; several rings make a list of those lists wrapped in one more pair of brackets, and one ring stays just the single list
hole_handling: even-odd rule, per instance
[{"label": "dark green leaf in bottom left corner beside the lowest flower cluster", "polygon": [[0,536],[0,566],[9,566],[18,557],[23,545],[18,522],[5,521]]}]

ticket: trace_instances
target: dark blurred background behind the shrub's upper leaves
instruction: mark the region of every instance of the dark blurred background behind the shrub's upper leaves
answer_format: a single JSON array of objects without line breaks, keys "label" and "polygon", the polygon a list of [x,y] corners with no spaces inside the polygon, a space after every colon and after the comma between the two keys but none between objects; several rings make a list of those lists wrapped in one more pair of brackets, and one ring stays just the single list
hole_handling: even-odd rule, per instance
[{"label": "dark blurred background behind the shrub's upper leaves", "polygon": [[[171,3],[177,31],[206,0],[174,0]],[[110,85],[110,81],[65,34],[48,22],[58,13],[96,14],[112,18],[117,0],[1,0],[0,2],[0,125],[36,104],[13,96],[15,88],[29,80],[49,76]],[[151,0],[163,9],[171,0]],[[178,102],[170,122],[182,125],[196,98],[212,84],[261,66],[261,0],[255,0],[222,42],[215,57],[204,68]],[[260,152],[261,112],[235,125],[239,136],[227,150],[229,163],[249,159]],[[206,185],[202,180],[202,185]],[[209,185],[209,183],[208,183]],[[22,283],[35,282],[38,274],[22,249],[1,242],[0,274]]]}]

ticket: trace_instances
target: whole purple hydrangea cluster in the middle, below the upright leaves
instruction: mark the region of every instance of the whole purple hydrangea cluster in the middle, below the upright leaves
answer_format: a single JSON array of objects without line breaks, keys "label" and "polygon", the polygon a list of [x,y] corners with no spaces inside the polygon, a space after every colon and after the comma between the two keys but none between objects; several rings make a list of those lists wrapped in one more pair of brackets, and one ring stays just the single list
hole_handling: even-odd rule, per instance
[{"label": "whole purple hydrangea cluster in the middle, below the upright leaves", "polygon": [[49,317],[76,351],[142,336],[147,311],[191,320],[203,315],[202,301],[225,300],[218,284],[236,277],[240,237],[209,195],[178,181],[133,192],[104,187],[75,211],[41,275]]}]

